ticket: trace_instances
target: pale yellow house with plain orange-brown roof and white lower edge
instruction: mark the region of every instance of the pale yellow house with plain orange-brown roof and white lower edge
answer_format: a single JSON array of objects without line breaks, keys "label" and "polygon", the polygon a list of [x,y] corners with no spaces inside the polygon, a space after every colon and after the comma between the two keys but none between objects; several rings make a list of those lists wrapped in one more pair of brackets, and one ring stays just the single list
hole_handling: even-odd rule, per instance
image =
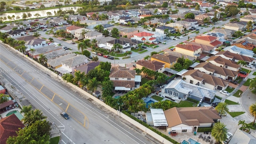
[{"label": "pale yellow house with plain orange-brown roof and white lower edge", "polygon": [[188,56],[199,57],[201,47],[193,44],[177,44],[175,46],[175,51]]}]

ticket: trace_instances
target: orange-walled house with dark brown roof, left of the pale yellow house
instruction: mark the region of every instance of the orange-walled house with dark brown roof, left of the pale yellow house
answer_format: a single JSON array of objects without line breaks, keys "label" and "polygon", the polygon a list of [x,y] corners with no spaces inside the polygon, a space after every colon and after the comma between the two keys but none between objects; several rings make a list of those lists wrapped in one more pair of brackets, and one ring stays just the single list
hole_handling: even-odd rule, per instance
[{"label": "orange-walled house with dark brown roof, left of the pale yellow house", "polygon": [[151,61],[158,61],[164,63],[164,68],[173,68],[174,64],[177,62],[178,57],[172,56],[170,54],[154,54],[151,56]]}]

